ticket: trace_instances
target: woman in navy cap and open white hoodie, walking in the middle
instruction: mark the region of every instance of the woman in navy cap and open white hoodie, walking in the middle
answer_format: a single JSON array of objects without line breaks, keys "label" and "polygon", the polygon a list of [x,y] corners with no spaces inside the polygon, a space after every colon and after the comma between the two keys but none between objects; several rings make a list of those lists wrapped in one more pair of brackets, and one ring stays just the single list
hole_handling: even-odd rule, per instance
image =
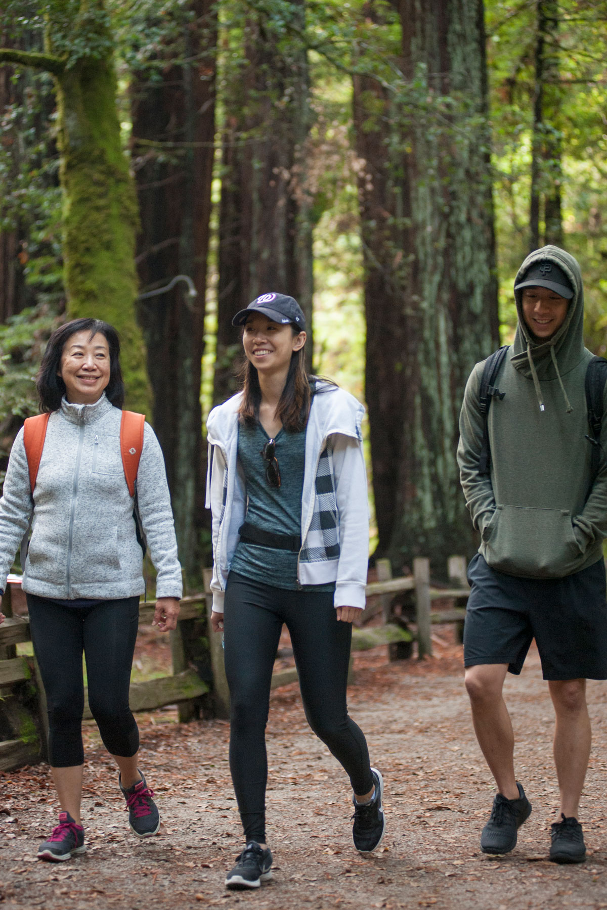
[{"label": "woman in navy cap and open white hoodie, walking in the middle", "polygon": [[212,625],[225,636],[230,770],[246,840],[226,885],[256,888],[272,875],[265,727],[283,622],[309,724],[349,774],[360,853],[379,845],[385,820],[381,774],[346,704],[369,555],[364,410],[307,375],[305,319],[293,298],[264,294],[232,323],[244,326],[244,387],[207,421]]}]

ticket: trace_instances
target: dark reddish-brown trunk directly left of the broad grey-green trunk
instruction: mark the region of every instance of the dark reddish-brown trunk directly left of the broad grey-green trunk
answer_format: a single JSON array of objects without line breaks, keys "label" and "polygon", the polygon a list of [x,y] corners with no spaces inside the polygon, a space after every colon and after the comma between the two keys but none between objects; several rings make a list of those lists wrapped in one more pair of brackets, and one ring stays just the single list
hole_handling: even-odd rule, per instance
[{"label": "dark reddish-brown trunk directly left of the broad grey-green trunk", "polygon": [[[375,3],[366,19],[382,25]],[[359,157],[358,188],[367,324],[365,393],[373,495],[378,526],[376,556],[389,548],[395,520],[400,446],[405,420],[401,381],[407,348],[405,296],[409,283],[408,174],[393,151],[394,102],[371,76],[354,76],[353,120]]]}]

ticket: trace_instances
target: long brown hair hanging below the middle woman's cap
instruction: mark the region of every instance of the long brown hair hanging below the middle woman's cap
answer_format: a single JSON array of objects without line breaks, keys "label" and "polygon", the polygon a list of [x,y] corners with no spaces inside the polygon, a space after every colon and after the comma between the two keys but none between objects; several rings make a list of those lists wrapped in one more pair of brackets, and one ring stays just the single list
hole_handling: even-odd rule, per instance
[{"label": "long brown hair hanging below the middle woman's cap", "polygon": [[[297,326],[291,325],[291,329],[293,335],[299,334]],[[289,433],[299,433],[301,430],[305,430],[312,402],[311,388],[315,377],[309,376],[306,370],[304,348],[294,350],[291,354],[287,382],[285,388],[282,389],[276,411],[277,417]],[[247,358],[240,369],[238,379],[242,382],[243,392],[242,402],[238,408],[238,419],[245,426],[250,427],[259,418],[261,389],[259,388],[258,371]]]}]

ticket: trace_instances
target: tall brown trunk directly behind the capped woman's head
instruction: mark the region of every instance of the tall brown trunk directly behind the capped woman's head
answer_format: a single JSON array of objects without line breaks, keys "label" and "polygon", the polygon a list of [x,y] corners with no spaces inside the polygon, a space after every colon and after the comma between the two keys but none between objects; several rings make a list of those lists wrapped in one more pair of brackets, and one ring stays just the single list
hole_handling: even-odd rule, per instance
[{"label": "tall brown trunk directly behind the capped woman's head", "polygon": [[216,401],[234,389],[238,346],[229,319],[258,294],[274,290],[298,299],[308,321],[311,366],[305,3],[282,3],[280,16],[274,18],[251,7],[243,20],[233,29],[238,45],[244,45],[244,56],[229,67],[223,126]]}]

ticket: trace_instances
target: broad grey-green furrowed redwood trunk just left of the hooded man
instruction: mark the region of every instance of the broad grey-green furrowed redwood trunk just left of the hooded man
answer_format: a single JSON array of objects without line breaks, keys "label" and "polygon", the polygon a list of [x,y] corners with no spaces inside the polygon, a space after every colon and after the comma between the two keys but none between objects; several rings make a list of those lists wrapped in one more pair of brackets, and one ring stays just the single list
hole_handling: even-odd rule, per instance
[{"label": "broad grey-green furrowed redwood trunk just left of the hooded man", "polygon": [[[395,441],[390,451],[397,480],[391,504],[380,490],[389,518],[380,516],[379,549],[388,551],[397,571],[411,568],[416,556],[430,556],[433,570],[446,576],[452,553],[475,549],[455,460],[463,389],[474,363],[499,340],[483,5],[395,0],[394,6],[409,107],[392,117],[399,131],[391,145],[400,147],[402,190],[384,193],[382,200],[389,213],[385,222],[396,218],[401,225],[400,307],[398,299],[395,308],[387,307],[381,288],[372,296],[369,280],[380,280],[381,268],[368,273],[366,287],[378,357],[383,352],[391,360],[391,377],[385,363],[368,369],[371,427],[389,420],[388,407],[375,405],[380,395],[388,398],[376,383],[389,383],[392,400],[400,398],[393,430],[398,450]],[[421,86],[417,96],[416,85]],[[399,170],[391,164],[389,170],[394,180]],[[379,266],[386,261],[384,253]],[[393,345],[395,332],[400,345]],[[390,353],[395,347],[400,350]],[[382,457],[376,451],[374,468]]]}]

